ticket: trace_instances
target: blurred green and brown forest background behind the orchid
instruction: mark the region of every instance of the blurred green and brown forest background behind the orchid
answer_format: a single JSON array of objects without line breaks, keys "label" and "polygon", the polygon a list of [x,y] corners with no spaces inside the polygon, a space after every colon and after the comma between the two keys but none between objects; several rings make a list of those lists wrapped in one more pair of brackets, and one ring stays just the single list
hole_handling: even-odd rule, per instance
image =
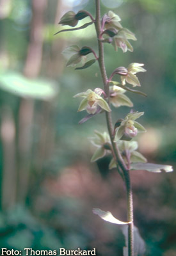
[{"label": "blurred green and brown forest background behind the orchid", "polygon": [[[109,157],[90,163],[88,138],[106,130],[104,115],[82,125],[79,100],[72,96],[101,87],[97,63],[86,70],[65,68],[65,47],[87,45],[97,51],[95,30],[61,33],[68,10],[88,10],[90,0],[0,0],[1,213],[0,247],[23,250],[97,249],[121,255],[116,225],[92,213],[93,207],[126,220],[124,184]],[[141,90],[127,95],[147,133],[138,136],[140,152],[152,163],[176,166],[176,2],[102,0],[136,34],[134,52],[115,52],[104,44],[108,74],[129,63],[145,63]],[[86,18],[79,25],[88,22]],[[113,109],[114,121],[129,108]],[[146,255],[176,255],[176,173],[132,172],[134,223],[147,244]]]}]

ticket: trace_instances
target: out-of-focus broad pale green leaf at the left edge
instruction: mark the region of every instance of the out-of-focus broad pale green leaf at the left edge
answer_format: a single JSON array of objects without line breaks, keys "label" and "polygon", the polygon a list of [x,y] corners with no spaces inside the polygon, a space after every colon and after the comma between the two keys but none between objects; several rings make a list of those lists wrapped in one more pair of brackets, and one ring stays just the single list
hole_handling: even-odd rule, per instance
[{"label": "out-of-focus broad pale green leaf at the left edge", "polygon": [[58,94],[58,87],[52,81],[29,79],[17,72],[0,74],[0,88],[19,97],[51,100]]}]

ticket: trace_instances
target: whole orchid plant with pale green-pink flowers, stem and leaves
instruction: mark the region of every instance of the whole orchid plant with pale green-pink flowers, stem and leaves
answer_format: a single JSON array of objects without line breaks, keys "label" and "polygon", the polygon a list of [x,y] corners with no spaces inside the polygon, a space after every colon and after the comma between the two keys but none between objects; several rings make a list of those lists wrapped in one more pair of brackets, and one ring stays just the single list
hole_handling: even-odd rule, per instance
[{"label": "whole orchid plant with pale green-pink flowers, stem and leaves", "polygon": [[[127,227],[127,232],[124,231],[125,229],[122,230],[126,241],[123,249],[124,256],[144,255],[145,244],[133,223],[130,173],[132,170],[147,170],[148,172],[161,172],[164,170],[165,172],[172,172],[173,169],[172,166],[168,165],[147,163],[147,159],[140,152],[136,151],[138,149],[138,143],[132,139],[135,138],[139,132],[146,132],[143,125],[136,122],[138,118],[143,116],[143,112],[134,112],[131,110],[125,118],[116,120],[113,125],[111,105],[115,108],[121,106],[132,108],[133,103],[131,99],[125,95],[127,91],[144,97],[146,96],[145,93],[133,89],[133,87],[141,86],[136,74],[138,72],[146,72],[146,70],[143,68],[143,63],[131,63],[127,68],[116,67],[108,77],[104,64],[104,44],[108,43],[109,45],[113,45],[115,51],[118,51],[120,48],[123,52],[132,52],[133,48],[129,40],[137,39],[134,33],[129,31],[129,29],[123,28],[120,23],[120,17],[113,11],[105,13],[102,17],[100,16],[100,0],[95,0],[95,13],[95,18],[93,18],[91,13],[85,10],[80,10],[77,13],[72,11],[65,13],[65,15],[61,17],[59,24],[62,26],[67,25],[72,28],[63,29],[56,34],[65,31],[85,29],[92,24],[95,26],[99,49],[98,55],[88,46],[79,47],[77,45],[68,47],[63,53],[70,54],[67,66],[76,66],[81,63],[81,66],[76,67],[76,70],[88,68],[96,61],[99,63],[100,74],[102,76],[102,88],[95,88],[94,90],[88,88],[86,92],[79,92],[74,95],[74,97],[83,98],[78,111],[86,111],[88,113],[79,124],[86,122],[93,116],[99,115],[102,112],[105,113],[108,132],[95,131],[95,136],[90,139],[97,148],[91,161],[97,161],[107,154],[112,156],[109,169],[116,168],[125,183],[127,191],[127,221],[120,221],[113,217],[111,212],[104,212],[100,209],[93,209],[93,212],[98,214],[103,220]],[[79,20],[85,17],[90,17],[90,22],[83,24],[83,26],[76,27]],[[88,54],[93,54],[93,59],[86,61]],[[114,80],[116,75],[119,79]]]}]

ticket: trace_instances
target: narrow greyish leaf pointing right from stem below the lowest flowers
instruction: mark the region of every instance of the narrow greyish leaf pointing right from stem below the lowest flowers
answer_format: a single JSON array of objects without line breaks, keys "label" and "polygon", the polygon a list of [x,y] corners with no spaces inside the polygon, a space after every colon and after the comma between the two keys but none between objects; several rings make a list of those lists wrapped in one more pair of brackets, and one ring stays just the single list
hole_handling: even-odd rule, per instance
[{"label": "narrow greyish leaf pointing right from stem below the lowest flowers", "polygon": [[173,172],[171,165],[153,164],[153,163],[136,163],[131,164],[131,170],[145,170],[148,172]]}]

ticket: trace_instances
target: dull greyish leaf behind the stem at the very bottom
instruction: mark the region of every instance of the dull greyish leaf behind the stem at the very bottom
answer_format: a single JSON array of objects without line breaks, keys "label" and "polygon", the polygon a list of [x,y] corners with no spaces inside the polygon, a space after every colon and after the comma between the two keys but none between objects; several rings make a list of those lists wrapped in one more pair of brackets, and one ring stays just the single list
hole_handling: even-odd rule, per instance
[{"label": "dull greyish leaf behind the stem at the very bottom", "polygon": [[[120,229],[124,234],[126,244],[123,255],[128,256],[128,227],[124,225],[120,226]],[[145,250],[145,241],[143,241],[138,228],[134,226],[134,255],[144,256]]]}]

